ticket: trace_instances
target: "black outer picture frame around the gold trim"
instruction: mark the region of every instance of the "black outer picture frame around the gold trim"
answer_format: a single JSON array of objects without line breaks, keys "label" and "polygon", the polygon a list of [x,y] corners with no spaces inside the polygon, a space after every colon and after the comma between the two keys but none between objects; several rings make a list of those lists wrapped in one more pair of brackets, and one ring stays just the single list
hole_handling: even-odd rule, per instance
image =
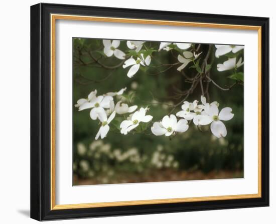
[{"label": "black outer picture frame around the gold trim", "polygon": [[[261,197],[51,210],[50,14],[261,26]],[[269,18],[39,3],[31,6],[31,217],[37,220],[269,206]]]}]

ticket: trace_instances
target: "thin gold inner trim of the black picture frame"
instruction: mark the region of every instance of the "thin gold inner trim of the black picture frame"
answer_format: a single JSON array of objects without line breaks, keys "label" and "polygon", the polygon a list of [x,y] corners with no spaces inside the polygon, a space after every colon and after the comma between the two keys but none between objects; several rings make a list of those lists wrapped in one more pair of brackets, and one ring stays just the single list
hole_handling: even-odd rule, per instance
[{"label": "thin gold inner trim of the black picture frame", "polygon": [[[55,71],[55,62],[56,62],[55,31],[56,29],[55,29],[55,25],[56,25],[57,19],[257,30],[258,31],[258,193],[222,195],[222,196],[205,196],[205,197],[153,199],[153,200],[55,204],[55,201],[56,201],[56,194],[55,194],[55,189],[56,189],[56,184],[55,184],[55,178],[56,178],[56,175],[55,175],[55,75],[56,75],[55,73],[56,72]],[[228,200],[228,199],[257,198],[257,197],[261,197],[261,26],[185,22],[185,21],[170,21],[170,20],[152,20],[152,19],[132,19],[132,18],[116,18],[116,17],[97,17],[97,16],[81,16],[81,15],[68,15],[68,14],[51,14],[51,198],[50,198],[51,210],[123,206],[123,205],[176,203],[176,202],[207,201],[207,200]]]}]

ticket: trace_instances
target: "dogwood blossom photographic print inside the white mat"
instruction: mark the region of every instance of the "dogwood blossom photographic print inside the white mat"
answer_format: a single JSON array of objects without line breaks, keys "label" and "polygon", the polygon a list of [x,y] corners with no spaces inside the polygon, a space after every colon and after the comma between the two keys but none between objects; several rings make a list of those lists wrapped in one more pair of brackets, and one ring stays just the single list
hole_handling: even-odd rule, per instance
[{"label": "dogwood blossom photographic print inside the white mat", "polygon": [[243,50],[73,38],[73,185],[243,177]]}]

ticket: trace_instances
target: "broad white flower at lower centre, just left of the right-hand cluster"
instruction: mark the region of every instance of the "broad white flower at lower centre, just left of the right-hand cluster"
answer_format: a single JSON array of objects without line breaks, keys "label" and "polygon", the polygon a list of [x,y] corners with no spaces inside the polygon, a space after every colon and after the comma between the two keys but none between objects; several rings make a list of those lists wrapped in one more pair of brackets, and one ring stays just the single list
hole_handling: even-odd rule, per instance
[{"label": "broad white flower at lower centre, just left of the right-hand cluster", "polygon": [[163,117],[161,122],[154,122],[151,130],[155,135],[170,136],[174,132],[184,132],[188,130],[188,121],[185,119],[180,119],[177,121],[177,118],[174,114],[170,116],[166,115]]}]

